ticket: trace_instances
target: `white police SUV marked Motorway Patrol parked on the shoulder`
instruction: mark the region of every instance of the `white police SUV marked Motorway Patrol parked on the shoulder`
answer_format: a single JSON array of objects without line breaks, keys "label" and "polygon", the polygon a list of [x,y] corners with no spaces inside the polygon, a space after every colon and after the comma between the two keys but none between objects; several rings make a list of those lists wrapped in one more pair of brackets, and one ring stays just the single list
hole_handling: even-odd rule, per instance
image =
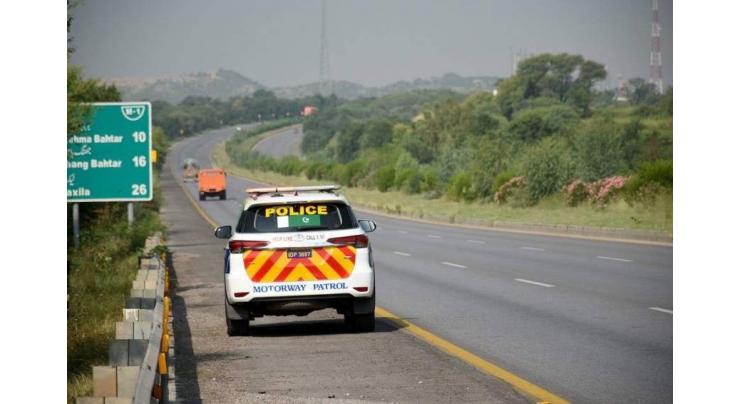
[{"label": "white police SUV marked Motorway Patrol parked on the shoulder", "polygon": [[335,309],[355,331],[375,329],[375,272],[367,233],[339,186],[247,189],[224,259],[229,335],[249,332],[265,315],[305,316]]}]

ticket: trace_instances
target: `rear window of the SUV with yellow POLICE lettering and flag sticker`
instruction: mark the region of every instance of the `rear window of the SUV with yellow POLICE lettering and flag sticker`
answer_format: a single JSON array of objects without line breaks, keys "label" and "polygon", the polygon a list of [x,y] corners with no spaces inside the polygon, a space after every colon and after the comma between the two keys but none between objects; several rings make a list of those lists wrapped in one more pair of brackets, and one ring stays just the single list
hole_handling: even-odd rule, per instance
[{"label": "rear window of the SUV with yellow POLICE lettering and flag sticker", "polygon": [[357,227],[352,210],[343,203],[298,203],[254,206],[242,212],[239,233],[284,233]]}]

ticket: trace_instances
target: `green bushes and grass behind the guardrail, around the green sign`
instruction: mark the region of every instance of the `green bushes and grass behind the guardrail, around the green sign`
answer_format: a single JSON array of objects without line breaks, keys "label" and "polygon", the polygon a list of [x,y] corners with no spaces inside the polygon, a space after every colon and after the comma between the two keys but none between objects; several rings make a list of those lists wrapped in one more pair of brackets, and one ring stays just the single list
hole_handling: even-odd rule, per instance
[{"label": "green bushes and grass behind the guardrail, around the green sign", "polygon": [[[69,67],[68,135],[76,133],[88,117],[89,108],[83,103],[102,101],[120,101],[118,90]],[[153,135],[161,164],[168,140],[161,128],[154,128]],[[165,230],[158,214],[158,171],[155,168],[154,199],[136,203],[132,227],[128,227],[125,203],[81,203],[79,249],[73,245],[72,205],[67,204],[67,402],[92,393],[92,366],[108,363],[108,343],[114,338],[115,322],[122,318],[144,241]]]}]

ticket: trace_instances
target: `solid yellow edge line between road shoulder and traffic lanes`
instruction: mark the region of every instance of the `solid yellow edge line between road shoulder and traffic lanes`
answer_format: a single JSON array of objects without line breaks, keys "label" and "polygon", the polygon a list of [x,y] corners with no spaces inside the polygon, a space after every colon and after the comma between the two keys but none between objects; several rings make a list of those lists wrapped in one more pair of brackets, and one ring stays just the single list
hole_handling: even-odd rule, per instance
[{"label": "solid yellow edge line between road shoulder and traffic lanes", "polygon": [[[174,170],[171,170],[171,171],[172,171],[173,177],[175,177],[175,180],[177,181],[177,177],[175,175]],[[203,219],[205,219],[206,222],[211,224],[213,227],[218,227],[218,223],[216,223],[208,215],[208,213],[206,213],[206,211],[203,210],[200,204],[190,194],[187,187],[185,187],[185,184],[183,184],[182,182],[179,182],[179,184],[180,184],[180,188],[185,193],[185,195],[188,197],[188,200],[190,200],[190,203],[193,205],[193,207],[198,212],[198,214],[200,214],[200,216]],[[388,310],[380,306],[375,306],[375,312],[380,317],[386,318],[389,321],[397,324],[399,327],[401,327],[402,330],[405,330],[411,333],[412,335],[418,337],[422,341],[425,341],[428,344],[439,348],[443,352],[462,360],[463,362],[475,367],[476,369],[480,370],[481,372],[485,374],[488,374],[500,380],[503,380],[504,382],[512,385],[514,388],[530,396],[535,397],[538,400],[538,402],[547,402],[551,404],[569,403],[568,400],[562,397],[559,397],[543,389],[542,387],[537,386],[536,384],[528,382],[527,380],[522,379],[521,377],[507,371],[506,369],[496,366],[493,363],[488,362],[485,359],[481,358],[480,356],[477,356],[469,351],[466,351],[460,348],[459,346],[453,344],[452,342],[449,342],[444,338],[438,337],[437,335],[432,334],[431,332],[417,325],[414,325],[413,323],[407,320],[404,320],[396,316],[395,314],[389,312]]]}]

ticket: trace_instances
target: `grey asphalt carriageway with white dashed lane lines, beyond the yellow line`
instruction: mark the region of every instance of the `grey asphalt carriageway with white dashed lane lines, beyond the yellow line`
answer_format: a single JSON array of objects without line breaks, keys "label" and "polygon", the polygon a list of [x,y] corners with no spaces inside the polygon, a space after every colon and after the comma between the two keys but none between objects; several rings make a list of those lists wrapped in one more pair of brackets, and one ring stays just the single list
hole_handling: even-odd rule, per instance
[{"label": "grey asphalt carriageway with white dashed lane lines, beyond the yellow line", "polygon": [[[188,139],[170,158],[208,166],[230,134]],[[231,177],[228,200],[201,205],[234,225],[258,185]],[[672,247],[356,213],[378,223],[379,306],[573,402],[672,402]]]}]

